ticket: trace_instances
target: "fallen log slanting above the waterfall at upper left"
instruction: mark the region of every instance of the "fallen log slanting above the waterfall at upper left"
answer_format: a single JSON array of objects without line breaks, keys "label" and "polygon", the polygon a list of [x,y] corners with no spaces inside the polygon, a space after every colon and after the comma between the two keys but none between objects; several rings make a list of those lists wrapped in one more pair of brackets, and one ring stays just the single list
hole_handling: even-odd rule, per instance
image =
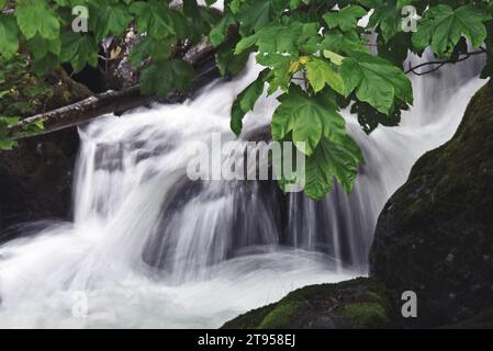
[{"label": "fallen log slanting above the waterfall at upper left", "polygon": [[[192,47],[184,55],[183,59],[191,64],[198,72],[193,80],[192,91],[219,77],[214,53],[215,50],[210,45],[201,45]],[[164,103],[177,103],[186,98],[187,95],[176,91],[168,93],[165,99],[158,99],[157,95],[142,95],[141,87],[137,84],[120,91],[110,90],[60,109],[26,117],[19,124],[10,126],[8,133],[11,136],[10,139],[15,140],[68,128],[108,113],[121,115],[125,111],[147,105],[157,100]],[[35,126],[41,122],[43,123],[43,129],[40,132],[34,134],[23,133],[30,126]]]}]

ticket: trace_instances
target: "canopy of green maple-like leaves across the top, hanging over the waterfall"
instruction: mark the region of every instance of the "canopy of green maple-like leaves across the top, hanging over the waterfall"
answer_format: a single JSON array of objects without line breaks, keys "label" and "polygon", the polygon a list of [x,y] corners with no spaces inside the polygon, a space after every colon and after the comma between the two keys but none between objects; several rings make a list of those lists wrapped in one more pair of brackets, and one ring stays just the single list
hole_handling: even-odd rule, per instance
[{"label": "canopy of green maple-like leaves across the top, hanging over the waterfall", "polygon": [[[7,10],[0,14],[0,97],[11,93],[3,67],[16,55],[27,55],[37,75],[60,64],[78,71],[98,65],[104,37],[123,37],[130,26],[145,34],[131,53],[133,65],[142,69],[143,93],[187,92],[195,72],[175,48],[208,37],[223,76],[238,73],[250,54],[265,67],[234,102],[232,131],[240,134],[245,114],[264,90],[279,92],[272,137],[305,144],[300,148],[307,157],[305,193],[322,199],[334,178],[349,192],[363,161],[340,110],[350,105],[370,133],[379,124],[399,124],[401,111],[413,103],[403,70],[408,50],[422,55],[430,47],[444,61],[457,61],[468,49],[481,50],[488,57],[483,77],[493,71],[490,0],[225,0],[222,14],[208,9],[215,2],[0,0],[0,9]],[[71,29],[76,5],[89,10],[87,33]],[[402,11],[407,5],[421,15],[414,32],[403,31]],[[365,16],[369,21],[361,24]],[[369,41],[372,33],[376,44]],[[2,116],[0,126],[18,117]],[[2,138],[0,147],[12,146],[0,132]]]}]

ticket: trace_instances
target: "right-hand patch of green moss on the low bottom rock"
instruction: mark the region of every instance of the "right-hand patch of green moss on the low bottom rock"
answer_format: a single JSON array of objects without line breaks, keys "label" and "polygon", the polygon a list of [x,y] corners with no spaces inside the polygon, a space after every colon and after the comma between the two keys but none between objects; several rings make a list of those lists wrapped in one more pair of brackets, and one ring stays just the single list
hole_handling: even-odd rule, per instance
[{"label": "right-hand patch of green moss on the low bottom rock", "polygon": [[385,308],[378,303],[355,303],[343,307],[341,315],[350,318],[352,328],[388,328],[390,318]]}]

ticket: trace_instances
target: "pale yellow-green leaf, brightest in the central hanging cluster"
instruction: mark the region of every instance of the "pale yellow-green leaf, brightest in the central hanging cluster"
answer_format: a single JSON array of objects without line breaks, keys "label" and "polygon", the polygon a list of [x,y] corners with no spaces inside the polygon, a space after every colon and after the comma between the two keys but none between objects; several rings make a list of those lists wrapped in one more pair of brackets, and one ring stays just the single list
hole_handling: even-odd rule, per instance
[{"label": "pale yellow-green leaf, brightest in the central hanging cluster", "polygon": [[306,64],[306,78],[315,92],[321,91],[328,84],[339,94],[345,94],[344,81],[339,73],[333,68],[330,61],[323,58],[312,57]]}]

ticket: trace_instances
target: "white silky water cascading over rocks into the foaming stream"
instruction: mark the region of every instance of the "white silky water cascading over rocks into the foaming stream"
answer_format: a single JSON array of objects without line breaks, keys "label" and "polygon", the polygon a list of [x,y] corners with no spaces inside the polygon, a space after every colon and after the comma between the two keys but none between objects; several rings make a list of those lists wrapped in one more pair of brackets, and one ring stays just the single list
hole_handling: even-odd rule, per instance
[{"label": "white silky water cascading over rocks into the foaming stream", "polygon": [[[256,78],[253,64],[184,104],[81,128],[74,223],[0,247],[0,327],[219,327],[295,287],[365,274],[384,202],[452,136],[482,83],[470,79],[478,65],[457,66],[414,79],[415,106],[399,127],[367,136],[347,115],[366,165],[349,196],[336,186],[317,203],[270,182],[186,176],[192,141],[234,139],[229,109]],[[247,129],[276,106],[261,99]]]}]

